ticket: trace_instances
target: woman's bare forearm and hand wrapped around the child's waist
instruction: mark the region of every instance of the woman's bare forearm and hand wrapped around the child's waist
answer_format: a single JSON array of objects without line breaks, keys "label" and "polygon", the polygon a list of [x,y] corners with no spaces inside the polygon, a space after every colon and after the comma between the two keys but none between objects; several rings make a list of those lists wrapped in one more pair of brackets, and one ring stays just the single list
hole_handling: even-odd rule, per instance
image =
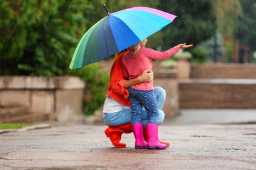
[{"label": "woman's bare forearm and hand wrapped around the child's waist", "polygon": [[131,86],[134,86],[135,84],[139,84],[140,82],[150,82],[153,80],[153,78],[154,78],[154,73],[150,70],[145,70],[137,78],[134,78],[132,80],[127,80],[123,85],[123,88],[129,88]]}]

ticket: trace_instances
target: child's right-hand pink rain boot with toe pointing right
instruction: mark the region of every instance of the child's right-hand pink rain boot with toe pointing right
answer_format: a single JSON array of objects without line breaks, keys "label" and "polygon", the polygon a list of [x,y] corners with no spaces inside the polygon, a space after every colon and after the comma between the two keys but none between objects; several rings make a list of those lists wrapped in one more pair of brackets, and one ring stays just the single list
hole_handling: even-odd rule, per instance
[{"label": "child's right-hand pink rain boot with toe pointing right", "polygon": [[165,149],[166,144],[160,143],[158,139],[158,124],[149,123],[146,125],[148,130],[148,149]]}]

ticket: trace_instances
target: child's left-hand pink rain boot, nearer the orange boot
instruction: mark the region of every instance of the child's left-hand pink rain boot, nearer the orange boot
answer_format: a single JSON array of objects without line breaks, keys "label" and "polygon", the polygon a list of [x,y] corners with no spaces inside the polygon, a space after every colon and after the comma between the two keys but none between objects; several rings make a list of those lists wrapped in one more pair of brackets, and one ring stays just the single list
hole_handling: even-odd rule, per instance
[{"label": "child's left-hand pink rain boot, nearer the orange boot", "polygon": [[146,148],[147,143],[143,137],[143,124],[132,124],[131,126],[133,127],[133,135],[135,137],[135,148]]}]

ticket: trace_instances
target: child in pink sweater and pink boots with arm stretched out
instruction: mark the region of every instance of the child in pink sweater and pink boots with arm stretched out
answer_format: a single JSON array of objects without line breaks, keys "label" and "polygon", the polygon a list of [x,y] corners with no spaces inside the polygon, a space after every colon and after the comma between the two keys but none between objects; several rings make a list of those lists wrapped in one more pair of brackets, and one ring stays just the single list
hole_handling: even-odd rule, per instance
[{"label": "child in pink sweater and pink boots with arm stretched out", "polygon": [[[123,56],[123,73],[127,80],[141,75],[144,70],[152,71],[152,59],[166,59],[179,52],[179,48],[190,48],[192,44],[179,44],[165,52],[145,48],[148,40],[134,44]],[[131,124],[135,135],[135,148],[165,149],[166,144],[158,139],[158,109],[153,92],[153,81],[142,82],[128,88],[131,103]],[[148,143],[144,141],[143,124],[141,122],[142,106],[149,116],[147,124]]]}]

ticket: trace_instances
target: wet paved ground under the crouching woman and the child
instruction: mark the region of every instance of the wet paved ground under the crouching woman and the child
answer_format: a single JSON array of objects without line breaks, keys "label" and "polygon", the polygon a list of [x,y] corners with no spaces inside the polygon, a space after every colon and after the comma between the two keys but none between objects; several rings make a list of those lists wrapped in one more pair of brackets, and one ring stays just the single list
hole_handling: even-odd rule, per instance
[{"label": "wet paved ground under the crouching woman and the child", "polygon": [[242,122],[217,121],[229,111],[181,110],[166,118],[159,127],[171,144],[165,150],[136,150],[133,133],[122,136],[126,148],[114,148],[102,123],[1,133],[0,169],[256,169],[256,124],[244,121],[256,111],[237,110]]}]

